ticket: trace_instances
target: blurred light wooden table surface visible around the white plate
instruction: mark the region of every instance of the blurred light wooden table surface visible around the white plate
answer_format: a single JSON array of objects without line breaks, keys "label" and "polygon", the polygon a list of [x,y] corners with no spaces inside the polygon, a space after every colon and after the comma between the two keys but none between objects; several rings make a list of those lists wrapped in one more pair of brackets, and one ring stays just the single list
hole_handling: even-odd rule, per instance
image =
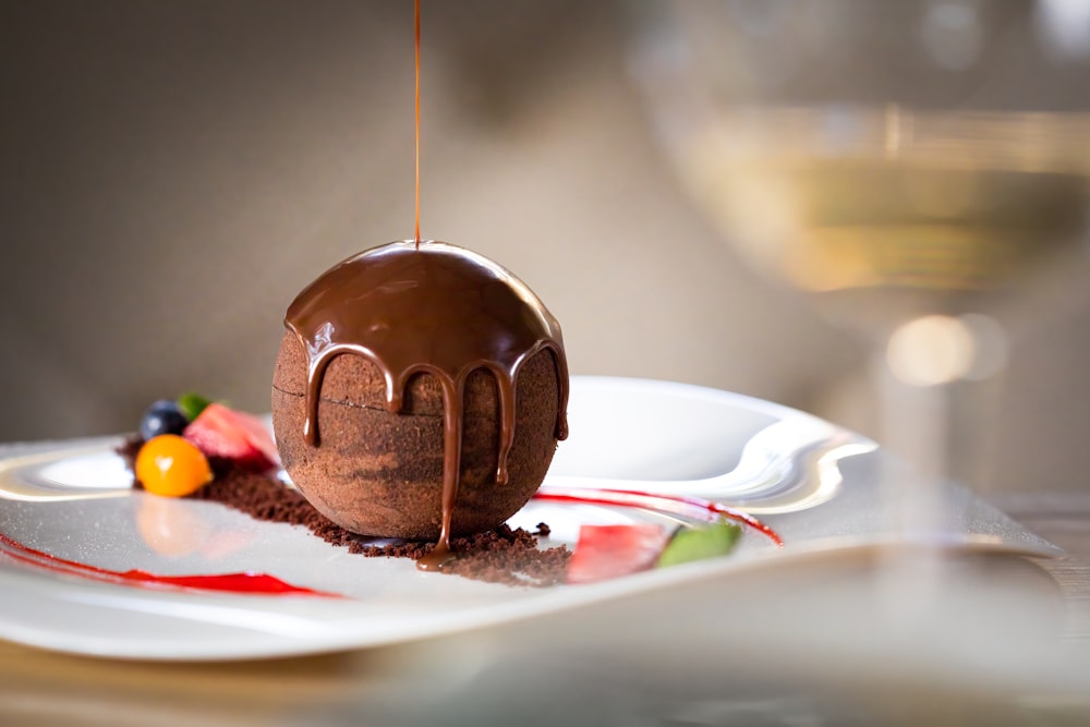
[{"label": "blurred light wooden table surface visible around the white plate", "polygon": [[[1042,566],[1067,605],[1062,639],[1090,646],[1090,493],[1008,496],[996,504],[1067,552]],[[384,688],[397,678],[399,659],[407,658],[402,652],[386,647],[304,658],[171,664],[72,656],[0,641],[0,724],[312,724],[307,714],[314,705],[368,695],[382,699]],[[777,708],[798,711],[811,703],[799,704],[787,701]],[[938,708],[935,704],[929,708]],[[1076,725],[1090,718],[1090,694],[1022,700],[1002,710],[991,698],[980,701],[971,695],[943,704],[944,724],[978,724],[981,715],[1001,725]],[[337,714],[327,712],[320,724],[353,722],[344,714],[343,720],[338,719]],[[913,712],[905,724],[918,718]],[[407,717],[397,724],[414,723]],[[719,723],[707,717],[683,724]]]}]

